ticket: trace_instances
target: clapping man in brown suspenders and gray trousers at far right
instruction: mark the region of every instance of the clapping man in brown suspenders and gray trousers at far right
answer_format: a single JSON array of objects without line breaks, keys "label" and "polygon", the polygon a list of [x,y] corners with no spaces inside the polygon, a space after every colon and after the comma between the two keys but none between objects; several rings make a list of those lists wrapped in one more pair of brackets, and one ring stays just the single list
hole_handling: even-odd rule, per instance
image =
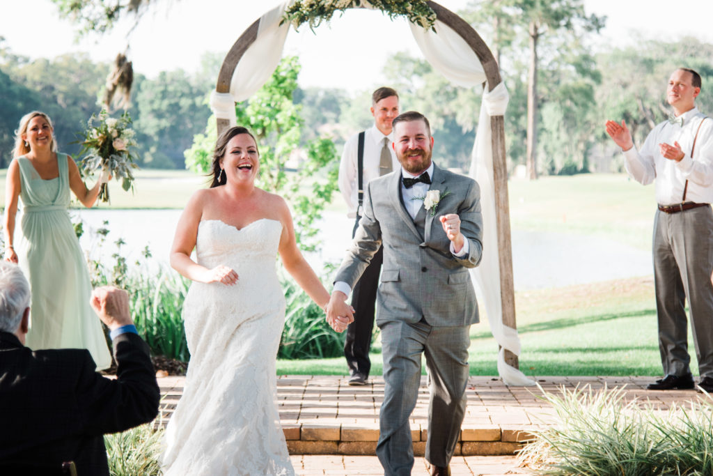
[{"label": "clapping man in brown suspenders and gray trousers at far right", "polygon": [[622,148],[629,175],[643,185],[656,181],[654,283],[664,378],[649,390],[694,388],[688,300],[699,387],[713,393],[713,120],[696,108],[700,91],[696,71],[674,71],[666,95],[674,116],[649,133],[640,151],[624,121],[606,123],[607,133]]}]

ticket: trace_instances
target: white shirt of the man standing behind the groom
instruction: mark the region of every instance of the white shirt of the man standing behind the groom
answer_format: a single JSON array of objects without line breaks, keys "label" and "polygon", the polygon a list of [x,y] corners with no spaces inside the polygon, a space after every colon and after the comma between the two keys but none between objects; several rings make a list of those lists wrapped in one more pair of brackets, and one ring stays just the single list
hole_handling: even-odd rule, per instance
[{"label": "white shirt of the man standing behind the groom", "polygon": [[[366,190],[366,184],[369,183],[372,178],[376,178],[381,174],[379,164],[381,163],[381,149],[384,147],[384,138],[389,139],[391,170],[399,170],[399,160],[396,158],[394,148],[391,147],[391,144],[394,142],[394,131],[391,131],[388,136],[384,136],[384,134],[376,128],[376,125],[371,126],[366,129],[366,133],[364,134],[364,190]],[[342,197],[344,197],[344,201],[347,202],[347,216],[349,218],[356,218],[356,207],[359,205],[359,197],[357,195],[357,191],[359,190],[358,153],[359,134],[356,133],[344,144],[342,161],[339,163],[339,179],[337,181],[339,191],[342,192]]]}]

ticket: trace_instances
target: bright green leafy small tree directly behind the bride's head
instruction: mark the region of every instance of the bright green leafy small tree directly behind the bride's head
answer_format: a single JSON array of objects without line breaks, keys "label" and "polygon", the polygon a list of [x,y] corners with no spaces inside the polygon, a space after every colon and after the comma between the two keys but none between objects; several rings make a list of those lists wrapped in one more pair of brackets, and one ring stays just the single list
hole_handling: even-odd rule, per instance
[{"label": "bright green leafy small tree directly behind the bride's head", "polygon": [[[301,106],[293,98],[297,90],[299,62],[296,56],[283,58],[260,91],[237,104],[237,123],[255,134],[260,149],[260,176],[257,185],[279,193],[294,211],[294,232],[302,250],[317,249],[315,222],[337,189],[336,150],[328,138],[307,141],[304,160],[296,171],[288,163],[299,157],[298,146],[304,121]],[[211,170],[212,150],[217,136],[215,117],[208,120],[205,133],[193,138],[185,151],[186,167],[200,173]]]}]

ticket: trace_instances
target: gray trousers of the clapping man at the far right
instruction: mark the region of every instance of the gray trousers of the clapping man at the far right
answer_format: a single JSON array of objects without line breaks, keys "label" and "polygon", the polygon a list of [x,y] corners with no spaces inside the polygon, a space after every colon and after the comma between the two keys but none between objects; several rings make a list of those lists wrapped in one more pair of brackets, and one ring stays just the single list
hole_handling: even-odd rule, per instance
[{"label": "gray trousers of the clapping man at the far right", "polygon": [[713,211],[656,212],[654,279],[659,349],[665,375],[690,373],[688,299],[701,378],[713,377]]}]

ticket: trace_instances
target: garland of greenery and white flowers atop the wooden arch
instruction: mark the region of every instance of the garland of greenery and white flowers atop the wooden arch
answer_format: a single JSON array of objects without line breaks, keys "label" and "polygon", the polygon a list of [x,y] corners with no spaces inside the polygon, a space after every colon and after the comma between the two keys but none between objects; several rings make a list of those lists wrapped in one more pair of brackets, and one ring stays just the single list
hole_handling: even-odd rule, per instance
[{"label": "garland of greenery and white flowers atop the wooden arch", "polygon": [[347,9],[371,7],[383,11],[390,19],[396,16],[405,16],[411,23],[420,25],[424,29],[434,28],[436,12],[425,0],[297,0],[284,12],[282,21],[288,21],[297,29],[304,23],[309,23],[309,28],[329,21],[334,13]]}]

